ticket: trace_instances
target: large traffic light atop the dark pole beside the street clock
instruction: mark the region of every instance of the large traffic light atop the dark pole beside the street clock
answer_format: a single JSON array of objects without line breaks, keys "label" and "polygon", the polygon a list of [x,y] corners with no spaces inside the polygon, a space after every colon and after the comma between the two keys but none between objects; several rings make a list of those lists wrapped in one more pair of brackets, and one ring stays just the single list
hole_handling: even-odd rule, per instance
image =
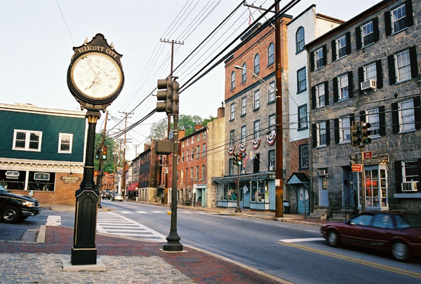
[{"label": "large traffic light atop the dark pole beside the street clock", "polygon": [[156,111],[166,111],[167,114],[178,114],[178,101],[180,85],[177,81],[167,79],[158,80],[158,92],[156,93]]}]

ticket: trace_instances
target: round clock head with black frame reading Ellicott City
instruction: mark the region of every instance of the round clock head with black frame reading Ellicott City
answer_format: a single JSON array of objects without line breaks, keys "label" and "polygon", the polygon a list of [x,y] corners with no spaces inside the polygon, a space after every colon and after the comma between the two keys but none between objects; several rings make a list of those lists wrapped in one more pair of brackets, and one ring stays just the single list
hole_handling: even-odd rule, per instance
[{"label": "round clock head with black frame reading Ellicott City", "polygon": [[121,54],[109,45],[102,34],[91,41],[74,47],[69,68],[67,86],[81,104],[81,109],[105,111],[123,88],[124,74]]}]

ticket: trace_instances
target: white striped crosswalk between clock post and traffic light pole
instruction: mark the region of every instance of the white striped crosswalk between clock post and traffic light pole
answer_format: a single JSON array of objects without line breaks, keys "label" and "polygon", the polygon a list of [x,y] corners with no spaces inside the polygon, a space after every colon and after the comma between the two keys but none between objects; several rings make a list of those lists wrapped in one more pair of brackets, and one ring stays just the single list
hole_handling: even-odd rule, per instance
[{"label": "white striped crosswalk between clock post and traffic light pole", "polygon": [[98,212],[97,231],[119,236],[133,236],[142,241],[166,242],[166,236],[115,212]]}]

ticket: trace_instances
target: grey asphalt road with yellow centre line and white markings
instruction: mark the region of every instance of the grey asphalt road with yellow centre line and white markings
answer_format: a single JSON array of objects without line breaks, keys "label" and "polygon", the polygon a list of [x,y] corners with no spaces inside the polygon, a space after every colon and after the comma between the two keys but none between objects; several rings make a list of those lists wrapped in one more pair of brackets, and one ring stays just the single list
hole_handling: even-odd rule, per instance
[{"label": "grey asphalt road with yellow centre line and white markings", "polygon": [[[100,212],[97,228],[101,226],[108,234],[137,234],[131,231],[138,229],[123,224],[142,227],[145,234],[131,236],[134,238],[153,235],[162,236],[158,241],[163,241],[169,234],[168,207],[105,200],[102,207],[112,211]],[[26,229],[46,224],[51,215],[60,216],[62,226],[74,226],[74,212],[43,210],[20,224],[0,223],[0,240],[12,236],[17,240]],[[119,224],[112,229],[112,222]],[[420,283],[421,279],[420,259],[401,263],[384,253],[330,248],[320,239],[319,229],[305,225],[179,209],[178,235],[183,245],[214,252],[293,283]]]}]

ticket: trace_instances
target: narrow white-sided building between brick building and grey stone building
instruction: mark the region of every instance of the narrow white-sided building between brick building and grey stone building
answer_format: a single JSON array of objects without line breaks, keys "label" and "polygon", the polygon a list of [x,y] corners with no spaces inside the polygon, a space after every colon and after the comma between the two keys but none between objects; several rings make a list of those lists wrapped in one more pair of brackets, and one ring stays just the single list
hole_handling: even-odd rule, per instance
[{"label": "narrow white-sided building between brick building and grey stone building", "polygon": [[309,180],[309,86],[305,43],[342,24],[342,20],[316,13],[316,5],[309,6],[288,22],[288,96],[289,126],[286,133],[290,149],[286,151],[290,168],[286,176],[286,201],[292,212],[309,212],[312,198]]}]

